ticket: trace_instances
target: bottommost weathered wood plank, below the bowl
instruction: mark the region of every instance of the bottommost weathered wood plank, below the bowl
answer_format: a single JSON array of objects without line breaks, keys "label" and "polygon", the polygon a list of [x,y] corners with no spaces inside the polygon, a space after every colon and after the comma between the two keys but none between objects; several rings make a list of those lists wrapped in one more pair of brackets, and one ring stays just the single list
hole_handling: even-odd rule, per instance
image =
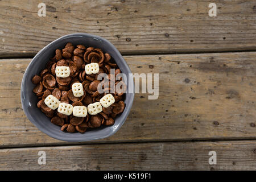
[{"label": "bottommost weathered wood plank, below the bowl", "polygon": [[[0,150],[1,170],[255,170],[256,142],[90,144]],[[209,151],[217,164],[210,165]],[[46,165],[38,152],[46,152]]]}]

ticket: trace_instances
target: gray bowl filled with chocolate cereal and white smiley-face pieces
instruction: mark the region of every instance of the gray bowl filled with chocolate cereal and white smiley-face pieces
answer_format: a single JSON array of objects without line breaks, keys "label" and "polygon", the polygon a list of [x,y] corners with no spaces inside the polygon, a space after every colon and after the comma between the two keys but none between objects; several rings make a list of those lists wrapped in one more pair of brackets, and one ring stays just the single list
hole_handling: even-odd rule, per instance
[{"label": "gray bowl filled with chocolate cereal and white smiley-face pieces", "polygon": [[82,142],[110,137],[125,122],[134,82],[121,53],[90,34],[62,36],[39,51],[21,85],[27,118],[50,137]]}]

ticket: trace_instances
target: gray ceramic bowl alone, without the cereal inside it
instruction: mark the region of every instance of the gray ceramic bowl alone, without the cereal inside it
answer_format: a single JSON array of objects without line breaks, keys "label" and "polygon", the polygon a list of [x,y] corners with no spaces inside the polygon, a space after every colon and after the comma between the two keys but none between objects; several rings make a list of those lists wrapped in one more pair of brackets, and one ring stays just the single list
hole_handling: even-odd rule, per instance
[{"label": "gray ceramic bowl alone, without the cereal inside it", "polygon": [[[113,126],[101,126],[97,129],[88,130],[84,134],[64,133],[60,130],[60,126],[53,125],[50,119],[47,118],[46,115],[36,107],[38,98],[32,92],[35,85],[32,84],[31,78],[34,75],[39,74],[40,70],[46,67],[46,63],[49,61],[49,58],[55,55],[55,49],[64,48],[65,44],[68,42],[71,42],[75,46],[78,44],[83,44],[85,47],[101,48],[102,51],[108,52],[113,57],[123,73],[127,75],[131,73],[130,68],[126,64],[121,53],[119,53],[119,51],[108,40],[101,38],[100,36],[82,33],[65,35],[44,47],[28,65],[22,79],[20,93],[24,113],[27,115],[27,118],[30,119],[30,121],[36,127],[38,127],[39,130],[43,131],[50,137],[59,140],[68,142],[82,142],[110,137],[117,132],[125,122],[131,110],[131,106],[133,105],[134,92],[126,93],[125,110],[123,113],[118,114],[117,118],[115,118],[115,123]],[[129,82],[127,82],[127,90],[134,90],[134,82],[131,78]]]}]

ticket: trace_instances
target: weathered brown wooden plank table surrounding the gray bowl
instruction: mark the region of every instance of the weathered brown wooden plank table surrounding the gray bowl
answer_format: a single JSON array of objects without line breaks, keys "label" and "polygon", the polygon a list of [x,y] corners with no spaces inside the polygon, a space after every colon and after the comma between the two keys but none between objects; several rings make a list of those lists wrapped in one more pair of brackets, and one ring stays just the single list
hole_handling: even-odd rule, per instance
[{"label": "weathered brown wooden plank table surrounding the gray bowl", "polygon": [[[216,17],[206,0],[51,0],[39,17],[38,1],[0,1],[0,169],[255,170],[256,1],[214,2]],[[159,73],[158,100],[135,94],[106,139],[50,138],[20,104],[32,57],[75,32],[110,40],[133,73]]]}]

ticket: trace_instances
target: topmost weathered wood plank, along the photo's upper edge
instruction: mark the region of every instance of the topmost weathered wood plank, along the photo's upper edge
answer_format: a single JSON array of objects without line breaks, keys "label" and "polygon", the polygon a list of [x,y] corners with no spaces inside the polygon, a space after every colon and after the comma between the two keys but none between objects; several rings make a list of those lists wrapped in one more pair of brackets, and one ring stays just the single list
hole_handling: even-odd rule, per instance
[{"label": "topmost weathered wood plank, along the photo's upper edge", "polygon": [[32,56],[60,36],[88,32],[122,53],[213,52],[256,49],[256,1],[0,2],[0,56]]}]

